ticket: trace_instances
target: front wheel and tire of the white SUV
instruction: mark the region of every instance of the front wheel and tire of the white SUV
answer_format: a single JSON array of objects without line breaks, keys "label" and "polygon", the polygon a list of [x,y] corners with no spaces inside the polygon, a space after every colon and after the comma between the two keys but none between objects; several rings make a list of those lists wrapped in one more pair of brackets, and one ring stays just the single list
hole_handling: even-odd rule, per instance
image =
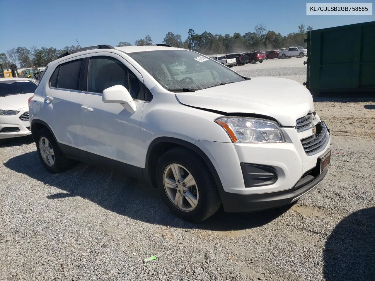
[{"label": "front wheel and tire of the white SUV", "polygon": [[160,157],[156,182],[165,204],[185,221],[203,221],[221,205],[210,170],[197,154],[188,149],[174,148]]}]

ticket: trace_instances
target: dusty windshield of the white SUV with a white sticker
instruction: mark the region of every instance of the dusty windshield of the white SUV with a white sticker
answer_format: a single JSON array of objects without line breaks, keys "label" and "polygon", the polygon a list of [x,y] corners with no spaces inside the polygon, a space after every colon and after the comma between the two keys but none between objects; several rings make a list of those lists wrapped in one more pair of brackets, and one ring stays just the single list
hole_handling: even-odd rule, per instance
[{"label": "dusty windshield of the white SUV with a white sticker", "polygon": [[245,81],[221,63],[189,50],[129,53],[167,90],[202,90],[220,84]]}]

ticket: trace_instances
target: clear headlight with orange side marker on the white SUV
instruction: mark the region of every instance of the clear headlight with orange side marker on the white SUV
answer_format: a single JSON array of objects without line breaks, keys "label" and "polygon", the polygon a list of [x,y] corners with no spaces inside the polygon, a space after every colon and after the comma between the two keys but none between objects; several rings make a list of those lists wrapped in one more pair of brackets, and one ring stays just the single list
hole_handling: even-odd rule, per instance
[{"label": "clear headlight with orange side marker on the white SUV", "polygon": [[278,124],[247,117],[219,117],[215,120],[235,143],[285,142]]}]

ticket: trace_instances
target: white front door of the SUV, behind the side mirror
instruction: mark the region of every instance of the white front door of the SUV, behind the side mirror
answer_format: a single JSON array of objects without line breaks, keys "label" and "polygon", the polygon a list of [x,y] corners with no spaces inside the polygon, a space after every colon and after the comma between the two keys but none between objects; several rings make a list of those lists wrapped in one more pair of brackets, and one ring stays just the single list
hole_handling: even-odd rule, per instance
[{"label": "white front door of the SUV, behind the side mirror", "polygon": [[[87,58],[87,91],[83,92],[80,105],[89,158],[97,160],[99,155],[141,167],[140,126],[144,101],[140,98],[144,90],[143,78],[119,55],[92,54]],[[129,90],[136,104],[134,113],[118,103],[102,102],[103,90],[114,85],[123,85]]]}]

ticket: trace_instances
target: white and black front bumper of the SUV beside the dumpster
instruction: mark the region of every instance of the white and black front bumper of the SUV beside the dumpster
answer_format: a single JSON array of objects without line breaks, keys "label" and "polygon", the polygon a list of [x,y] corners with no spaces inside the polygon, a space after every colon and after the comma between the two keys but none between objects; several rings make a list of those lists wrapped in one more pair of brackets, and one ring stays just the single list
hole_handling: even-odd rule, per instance
[{"label": "white and black front bumper of the SUV beside the dumpster", "polygon": [[[314,123],[320,121],[317,117]],[[219,192],[225,211],[246,212],[285,205],[297,200],[324,178],[327,171],[319,175],[317,167],[320,157],[330,149],[329,132],[324,146],[310,155],[305,152],[301,140],[312,135],[312,129],[297,133],[296,128],[283,127],[282,132],[285,143],[195,143],[210,158],[219,176]],[[271,167],[270,170],[258,171],[262,177],[270,176],[270,180],[267,184],[245,183],[241,163],[249,163],[255,169]],[[272,174],[276,175],[276,180],[272,180]]]}]

